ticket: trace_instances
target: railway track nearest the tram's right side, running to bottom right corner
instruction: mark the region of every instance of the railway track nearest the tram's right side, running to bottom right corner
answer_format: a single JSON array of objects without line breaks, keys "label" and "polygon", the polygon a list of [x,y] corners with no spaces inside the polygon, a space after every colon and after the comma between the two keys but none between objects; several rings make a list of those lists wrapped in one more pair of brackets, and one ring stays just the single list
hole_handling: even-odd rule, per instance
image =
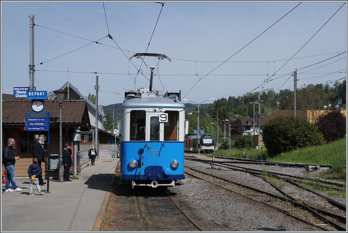
[{"label": "railway track nearest the tram's right side, running to bottom right corner", "polygon": [[[188,172],[187,169],[190,169],[190,172]],[[193,174],[192,171],[194,171],[193,173],[195,174]],[[278,211],[286,213],[287,215],[292,216],[298,220],[304,221],[307,224],[322,228],[323,230],[346,231],[346,228],[344,227],[345,225],[342,224],[342,221],[343,221],[342,219],[339,219],[340,222],[338,223],[337,221],[334,221],[337,216],[334,216],[334,217],[332,215],[323,216],[321,214],[323,212],[321,213],[317,212],[316,210],[310,208],[310,206],[306,205],[305,203],[301,203],[300,201],[296,200],[296,198],[293,198],[292,196],[277,189],[274,185],[272,186],[275,189],[277,189],[277,191],[279,192],[278,195],[275,194],[274,192],[269,193],[267,191],[246,186],[241,183],[237,183],[223,177],[205,173],[203,171],[198,171],[190,167],[185,167],[185,173],[195,176],[199,179],[203,179],[207,182],[213,183],[214,185],[217,185],[221,188],[228,189],[239,195],[250,198],[251,200],[254,200],[256,202],[266,204],[270,206],[271,208],[277,209]],[[290,204],[294,208],[289,208]],[[318,221],[320,223],[318,223]],[[318,226],[318,224],[322,224],[325,227],[320,227]]]}]

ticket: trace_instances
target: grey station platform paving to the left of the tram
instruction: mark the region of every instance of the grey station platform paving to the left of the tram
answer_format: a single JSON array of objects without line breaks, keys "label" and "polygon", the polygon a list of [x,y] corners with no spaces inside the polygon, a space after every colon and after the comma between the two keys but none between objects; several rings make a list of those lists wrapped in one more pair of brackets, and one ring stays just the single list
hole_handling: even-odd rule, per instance
[{"label": "grey station platform paving to the left of the tram", "polygon": [[[49,181],[43,195],[29,196],[28,179],[16,179],[20,192],[5,193],[2,185],[1,232],[92,231],[110,186],[118,158],[100,158],[72,182]],[[47,180],[44,180],[47,181]],[[12,189],[12,186],[11,186]],[[34,185],[33,193],[38,194]]]}]

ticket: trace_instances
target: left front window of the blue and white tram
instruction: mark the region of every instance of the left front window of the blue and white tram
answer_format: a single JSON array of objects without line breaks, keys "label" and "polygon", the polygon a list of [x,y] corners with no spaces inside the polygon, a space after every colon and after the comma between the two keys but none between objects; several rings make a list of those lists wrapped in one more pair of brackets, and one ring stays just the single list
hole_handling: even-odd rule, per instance
[{"label": "left front window of the blue and white tram", "polygon": [[130,111],[129,141],[145,141],[146,112],[144,110]]}]

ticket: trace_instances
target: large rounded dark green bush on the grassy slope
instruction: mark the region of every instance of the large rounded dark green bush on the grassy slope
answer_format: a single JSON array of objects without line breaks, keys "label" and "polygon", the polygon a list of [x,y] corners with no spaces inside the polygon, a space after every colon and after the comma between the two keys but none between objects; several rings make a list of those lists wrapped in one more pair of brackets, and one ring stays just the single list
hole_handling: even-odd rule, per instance
[{"label": "large rounded dark green bush on the grassy slope", "polygon": [[263,143],[269,156],[324,143],[322,134],[306,119],[279,116],[263,126]]}]

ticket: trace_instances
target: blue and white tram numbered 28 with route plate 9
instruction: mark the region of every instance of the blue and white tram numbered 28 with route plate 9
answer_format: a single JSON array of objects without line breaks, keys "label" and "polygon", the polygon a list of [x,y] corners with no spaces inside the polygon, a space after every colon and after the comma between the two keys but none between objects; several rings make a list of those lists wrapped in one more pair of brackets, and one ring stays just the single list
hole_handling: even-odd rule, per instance
[{"label": "blue and white tram numbered 28 with route plate 9", "polygon": [[180,91],[165,95],[144,88],[124,92],[120,183],[155,188],[185,179],[185,106],[180,100]]}]

